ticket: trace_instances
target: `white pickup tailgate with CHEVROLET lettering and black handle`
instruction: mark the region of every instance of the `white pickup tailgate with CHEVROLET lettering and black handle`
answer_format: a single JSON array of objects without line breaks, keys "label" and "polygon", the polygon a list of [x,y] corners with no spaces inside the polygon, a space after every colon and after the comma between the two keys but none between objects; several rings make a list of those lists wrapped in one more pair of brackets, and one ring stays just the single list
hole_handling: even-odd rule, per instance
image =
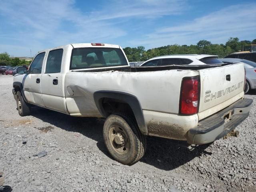
[{"label": "white pickup tailgate with CHEVROLET lettering and black handle", "polygon": [[244,64],[198,70],[200,74],[199,120],[228,107],[244,95]]}]

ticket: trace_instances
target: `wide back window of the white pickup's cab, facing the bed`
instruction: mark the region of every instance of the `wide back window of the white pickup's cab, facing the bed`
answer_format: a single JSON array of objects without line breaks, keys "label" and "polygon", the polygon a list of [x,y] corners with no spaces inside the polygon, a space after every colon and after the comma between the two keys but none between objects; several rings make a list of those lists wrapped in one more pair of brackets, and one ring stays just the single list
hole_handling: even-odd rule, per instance
[{"label": "wide back window of the white pickup's cab, facing the bed", "polygon": [[70,69],[128,66],[119,48],[74,48]]}]

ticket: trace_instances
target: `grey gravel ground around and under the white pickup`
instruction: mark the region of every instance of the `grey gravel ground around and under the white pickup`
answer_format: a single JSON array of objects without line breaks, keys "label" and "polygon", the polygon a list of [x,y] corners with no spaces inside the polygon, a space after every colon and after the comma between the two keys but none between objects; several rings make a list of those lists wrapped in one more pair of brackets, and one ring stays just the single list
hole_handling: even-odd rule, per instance
[{"label": "grey gravel ground around and under the white pickup", "polygon": [[[29,191],[256,191],[256,92],[250,116],[230,137],[203,146],[148,137],[145,156],[132,166],[108,155],[103,120],[35,107],[20,117],[12,76],[0,75],[0,170],[5,185]],[[26,142],[26,144],[22,144]],[[46,151],[47,155],[34,156]]]}]

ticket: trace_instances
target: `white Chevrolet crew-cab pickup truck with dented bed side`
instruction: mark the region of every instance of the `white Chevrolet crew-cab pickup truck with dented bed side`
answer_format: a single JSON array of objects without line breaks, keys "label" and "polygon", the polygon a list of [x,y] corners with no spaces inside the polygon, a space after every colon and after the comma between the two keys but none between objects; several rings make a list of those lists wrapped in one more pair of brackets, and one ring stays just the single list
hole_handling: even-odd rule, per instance
[{"label": "white Chevrolet crew-cab pickup truck with dented bed side", "polygon": [[130,67],[112,44],[68,44],[38,52],[14,76],[21,116],[37,105],[71,116],[106,118],[104,142],[123,164],[138,161],[146,136],[206,144],[249,115],[244,64]]}]

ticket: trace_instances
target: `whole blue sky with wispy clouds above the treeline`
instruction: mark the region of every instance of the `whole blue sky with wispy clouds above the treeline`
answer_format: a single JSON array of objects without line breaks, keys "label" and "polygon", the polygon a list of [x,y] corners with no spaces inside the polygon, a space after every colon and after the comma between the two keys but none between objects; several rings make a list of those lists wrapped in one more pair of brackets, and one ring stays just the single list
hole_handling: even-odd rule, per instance
[{"label": "whole blue sky with wispy clouds above the treeline", "polygon": [[255,0],[0,0],[0,53],[70,43],[123,48],[256,38]]}]

